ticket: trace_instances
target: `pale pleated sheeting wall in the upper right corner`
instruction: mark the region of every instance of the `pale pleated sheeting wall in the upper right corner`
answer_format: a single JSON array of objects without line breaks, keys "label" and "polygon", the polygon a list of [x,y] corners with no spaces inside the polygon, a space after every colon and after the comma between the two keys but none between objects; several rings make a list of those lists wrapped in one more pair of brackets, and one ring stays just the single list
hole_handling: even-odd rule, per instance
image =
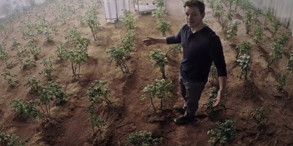
[{"label": "pale pleated sheeting wall in the upper right corner", "polygon": [[293,0],[252,0],[255,7],[268,10],[292,30],[293,35]]}]

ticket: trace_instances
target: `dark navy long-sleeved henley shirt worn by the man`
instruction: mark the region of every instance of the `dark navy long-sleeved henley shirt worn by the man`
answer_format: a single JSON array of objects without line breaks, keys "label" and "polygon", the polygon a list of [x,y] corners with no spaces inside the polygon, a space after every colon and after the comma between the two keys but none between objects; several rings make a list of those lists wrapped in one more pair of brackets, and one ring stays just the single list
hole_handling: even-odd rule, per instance
[{"label": "dark navy long-sleeved henley shirt worn by the man", "polygon": [[185,80],[189,82],[207,80],[213,61],[218,77],[227,77],[221,40],[207,25],[198,32],[192,33],[190,27],[185,24],[177,35],[168,36],[166,40],[167,44],[182,44],[180,74]]}]

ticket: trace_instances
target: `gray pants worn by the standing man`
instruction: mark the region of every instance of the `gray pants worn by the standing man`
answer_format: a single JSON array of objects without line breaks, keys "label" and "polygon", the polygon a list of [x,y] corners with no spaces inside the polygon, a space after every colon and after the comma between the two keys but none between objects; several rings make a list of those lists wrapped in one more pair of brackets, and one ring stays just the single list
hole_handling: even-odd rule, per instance
[{"label": "gray pants worn by the standing man", "polygon": [[198,110],[198,101],[206,82],[188,82],[184,80],[179,73],[180,93],[184,99],[184,108],[186,109],[184,117],[192,118]]}]

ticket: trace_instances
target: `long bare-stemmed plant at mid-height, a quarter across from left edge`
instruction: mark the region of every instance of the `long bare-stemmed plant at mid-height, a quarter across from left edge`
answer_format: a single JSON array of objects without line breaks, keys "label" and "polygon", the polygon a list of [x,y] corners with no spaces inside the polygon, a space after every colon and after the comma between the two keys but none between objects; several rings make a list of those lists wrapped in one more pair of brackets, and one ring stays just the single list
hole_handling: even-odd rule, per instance
[{"label": "long bare-stemmed plant at mid-height, a quarter across from left edge", "polygon": [[[83,47],[77,46],[74,50],[67,50],[67,57],[70,60],[71,63],[71,69],[72,69],[72,77],[79,77],[79,71],[80,71],[80,65],[82,62],[87,62],[87,52]],[[77,71],[78,66],[78,73]]]}]

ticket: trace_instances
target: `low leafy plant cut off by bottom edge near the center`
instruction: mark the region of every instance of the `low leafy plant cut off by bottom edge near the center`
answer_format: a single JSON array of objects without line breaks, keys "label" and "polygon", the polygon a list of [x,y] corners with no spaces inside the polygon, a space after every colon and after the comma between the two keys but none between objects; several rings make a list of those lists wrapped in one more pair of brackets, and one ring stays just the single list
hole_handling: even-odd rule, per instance
[{"label": "low leafy plant cut off by bottom edge near the center", "polygon": [[126,146],[157,146],[160,142],[158,138],[152,138],[152,133],[147,131],[139,131],[131,133],[126,138]]}]

